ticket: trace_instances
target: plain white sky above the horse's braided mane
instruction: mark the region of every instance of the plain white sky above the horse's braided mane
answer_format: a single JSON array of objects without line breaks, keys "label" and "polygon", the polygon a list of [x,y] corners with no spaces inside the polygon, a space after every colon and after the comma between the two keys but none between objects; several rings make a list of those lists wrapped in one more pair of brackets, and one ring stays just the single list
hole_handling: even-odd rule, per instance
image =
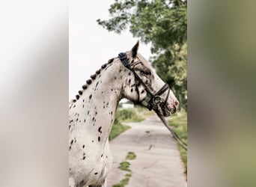
[{"label": "plain white sky above the horse's braided mane", "polygon": [[[74,99],[85,81],[119,52],[132,49],[138,38],[129,31],[109,32],[98,25],[97,19],[109,19],[109,7],[114,0],[70,0],[70,64],[69,98]],[[149,59],[150,45],[140,43],[138,52]]]}]

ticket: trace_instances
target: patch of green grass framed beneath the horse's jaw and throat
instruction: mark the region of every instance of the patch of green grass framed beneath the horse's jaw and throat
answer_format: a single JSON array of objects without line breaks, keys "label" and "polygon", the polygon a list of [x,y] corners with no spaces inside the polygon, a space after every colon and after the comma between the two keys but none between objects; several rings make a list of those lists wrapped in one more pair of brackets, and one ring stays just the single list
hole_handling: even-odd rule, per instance
[{"label": "patch of green grass framed beneath the horse's jaw and throat", "polygon": [[127,109],[118,108],[118,111],[115,114],[115,122],[109,135],[109,141],[130,128],[122,123],[140,122],[152,114],[152,111],[148,111],[146,108],[141,107]]}]

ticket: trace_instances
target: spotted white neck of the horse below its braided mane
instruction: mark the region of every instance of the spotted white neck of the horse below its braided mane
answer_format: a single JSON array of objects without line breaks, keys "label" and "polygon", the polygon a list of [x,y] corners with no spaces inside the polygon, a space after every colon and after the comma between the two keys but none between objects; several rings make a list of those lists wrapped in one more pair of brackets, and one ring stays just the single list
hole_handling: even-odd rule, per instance
[{"label": "spotted white neck of the horse below its braided mane", "polygon": [[76,122],[85,123],[85,129],[81,130],[94,136],[91,141],[103,146],[108,141],[115,120],[115,111],[121,99],[121,68],[121,64],[113,62],[101,70],[100,75],[97,75],[80,98],[73,103],[76,107],[71,107],[71,114],[79,115],[81,119]]}]

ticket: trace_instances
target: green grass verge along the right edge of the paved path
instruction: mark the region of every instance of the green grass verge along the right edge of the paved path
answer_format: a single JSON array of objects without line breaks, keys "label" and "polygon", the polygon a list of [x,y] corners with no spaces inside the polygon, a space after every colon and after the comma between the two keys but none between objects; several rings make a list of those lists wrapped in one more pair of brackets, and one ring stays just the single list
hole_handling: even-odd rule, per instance
[{"label": "green grass verge along the right edge of the paved path", "polygon": [[[174,129],[174,132],[184,141],[187,142],[187,114],[185,111],[180,111],[171,116],[168,120],[169,125]],[[178,144],[181,159],[185,165],[185,173],[187,174],[187,154],[186,150]]]}]

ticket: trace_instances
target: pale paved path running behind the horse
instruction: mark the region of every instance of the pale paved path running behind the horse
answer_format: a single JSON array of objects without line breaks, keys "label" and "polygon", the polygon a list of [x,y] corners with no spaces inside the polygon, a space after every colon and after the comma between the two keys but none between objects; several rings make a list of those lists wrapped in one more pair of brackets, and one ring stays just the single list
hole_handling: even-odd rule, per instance
[{"label": "pale paved path running behind the horse", "polygon": [[132,177],[127,187],[184,187],[186,176],[177,144],[156,115],[141,123],[127,123],[132,128],[119,135],[110,143],[114,156],[108,187],[124,179],[127,171],[118,166],[132,151],[136,159],[129,160]]}]

